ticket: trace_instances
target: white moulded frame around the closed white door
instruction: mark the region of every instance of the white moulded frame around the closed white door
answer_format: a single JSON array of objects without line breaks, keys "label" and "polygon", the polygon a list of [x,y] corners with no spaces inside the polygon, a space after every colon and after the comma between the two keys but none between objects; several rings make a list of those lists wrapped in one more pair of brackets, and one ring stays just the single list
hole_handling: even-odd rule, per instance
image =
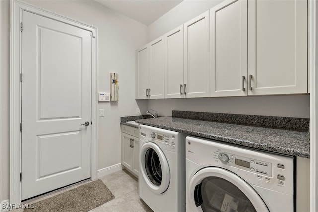
[{"label": "white moulded frame around the closed white door", "polygon": [[10,204],[21,203],[21,31],[22,10],[61,21],[92,32],[91,88],[91,179],[97,178],[97,32],[94,26],[72,20],[28,3],[11,1],[11,58],[10,58]]}]

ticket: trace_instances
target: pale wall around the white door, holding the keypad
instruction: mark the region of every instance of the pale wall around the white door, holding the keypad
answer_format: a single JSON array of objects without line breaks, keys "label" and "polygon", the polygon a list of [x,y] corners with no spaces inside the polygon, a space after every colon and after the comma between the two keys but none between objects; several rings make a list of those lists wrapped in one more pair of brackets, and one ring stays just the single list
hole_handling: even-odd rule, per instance
[{"label": "pale wall around the white door, holding the keypad", "polygon": [[[118,73],[119,101],[98,103],[98,169],[120,163],[120,117],[135,115],[147,101],[135,100],[135,49],[148,40],[147,26],[95,1],[27,1],[37,7],[98,28],[97,90],[109,92],[109,73]],[[2,1],[1,19],[1,200],[9,199],[9,34],[10,1]],[[97,94],[96,94],[97,95]],[[99,114],[99,112],[98,112]]]}]

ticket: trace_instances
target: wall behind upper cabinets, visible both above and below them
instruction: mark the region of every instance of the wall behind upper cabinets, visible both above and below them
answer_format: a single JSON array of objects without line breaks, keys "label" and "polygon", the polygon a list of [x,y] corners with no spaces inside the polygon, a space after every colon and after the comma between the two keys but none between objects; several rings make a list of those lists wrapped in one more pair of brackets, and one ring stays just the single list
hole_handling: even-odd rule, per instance
[{"label": "wall behind upper cabinets, visible both above and below them", "polygon": [[[148,42],[207,11],[222,0],[185,0],[148,26]],[[309,118],[309,95],[149,100],[159,116],[172,110]]]}]

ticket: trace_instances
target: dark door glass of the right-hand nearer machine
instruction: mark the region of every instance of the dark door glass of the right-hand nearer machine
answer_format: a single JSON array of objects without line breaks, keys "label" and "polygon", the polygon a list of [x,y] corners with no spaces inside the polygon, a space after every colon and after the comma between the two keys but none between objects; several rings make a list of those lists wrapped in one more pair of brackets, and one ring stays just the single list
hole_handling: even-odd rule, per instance
[{"label": "dark door glass of the right-hand nearer machine", "polygon": [[195,204],[204,212],[256,212],[246,195],[233,183],[207,177],[194,190]]}]

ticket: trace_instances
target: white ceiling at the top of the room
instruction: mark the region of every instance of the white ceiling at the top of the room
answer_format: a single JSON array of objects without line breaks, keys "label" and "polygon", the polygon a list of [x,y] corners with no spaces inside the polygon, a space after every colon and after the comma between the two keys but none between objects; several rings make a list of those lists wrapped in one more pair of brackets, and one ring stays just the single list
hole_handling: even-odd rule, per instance
[{"label": "white ceiling at the top of the room", "polygon": [[108,8],[149,25],[183,0],[96,0]]}]

